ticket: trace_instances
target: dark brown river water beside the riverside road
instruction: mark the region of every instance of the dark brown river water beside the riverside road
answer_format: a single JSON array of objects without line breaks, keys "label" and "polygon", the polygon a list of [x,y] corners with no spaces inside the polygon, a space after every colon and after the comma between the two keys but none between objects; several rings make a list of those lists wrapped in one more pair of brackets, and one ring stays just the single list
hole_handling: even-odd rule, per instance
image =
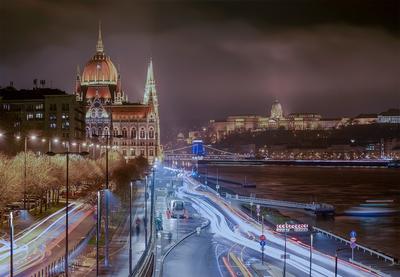
[{"label": "dark brown river water beside the riverside road", "polygon": [[[400,208],[400,169],[235,166],[209,167],[210,175],[256,184],[256,188],[228,188],[240,193],[256,193],[257,197],[298,202],[325,202],[335,206],[338,213],[368,199],[392,199]],[[205,171],[201,168],[200,171]],[[358,233],[357,242],[400,257],[400,215],[378,218],[335,216],[316,218],[293,211],[282,213],[302,222],[331,230],[348,237],[351,230]]]}]

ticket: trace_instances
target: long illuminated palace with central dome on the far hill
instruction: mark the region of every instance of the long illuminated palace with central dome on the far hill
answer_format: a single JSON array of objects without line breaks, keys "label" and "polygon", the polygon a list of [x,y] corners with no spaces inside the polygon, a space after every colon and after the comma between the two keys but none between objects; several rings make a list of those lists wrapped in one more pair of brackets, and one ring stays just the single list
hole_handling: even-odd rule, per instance
[{"label": "long illuminated palace with central dome on the far hill", "polygon": [[[318,113],[291,113],[285,116],[282,105],[276,100],[269,116],[228,116],[224,120],[210,120],[207,134],[213,142],[225,136],[244,131],[265,130],[329,130],[349,125],[373,123],[400,123],[400,110],[389,109],[379,114],[360,114],[356,117],[324,118]],[[181,134],[182,135],[182,134]],[[198,132],[189,132],[189,140],[198,137]]]}]

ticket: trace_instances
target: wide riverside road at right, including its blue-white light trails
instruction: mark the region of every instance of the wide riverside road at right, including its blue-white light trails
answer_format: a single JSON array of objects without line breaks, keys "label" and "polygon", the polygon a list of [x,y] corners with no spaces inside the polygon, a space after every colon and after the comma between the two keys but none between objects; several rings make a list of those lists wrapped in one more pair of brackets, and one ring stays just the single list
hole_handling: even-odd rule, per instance
[{"label": "wide riverside road at right, including its blue-white light trails", "polygon": [[[214,258],[216,263],[203,264],[208,267],[208,276],[234,276],[254,274],[251,265],[260,261],[261,249],[258,236],[261,234],[261,225],[245,213],[231,206],[229,202],[207,191],[201,184],[188,176],[184,177],[184,185],[178,189],[177,196],[190,201],[193,208],[204,218],[211,221],[208,232],[208,240],[203,241],[201,251],[207,255],[207,260]],[[284,238],[273,230],[266,229],[267,246],[265,259],[267,261],[267,272],[271,276],[282,274],[283,261],[281,259],[284,249]],[[176,247],[174,255],[179,255],[181,260],[166,260],[164,266],[181,264],[179,270],[190,270],[200,262],[197,255],[196,242],[201,237],[188,239]],[[189,255],[192,249],[192,254]],[[212,251],[214,249],[214,251]],[[217,250],[215,250],[217,249]],[[181,255],[180,252],[186,253]],[[307,245],[293,240],[287,240],[286,271],[292,276],[309,275],[309,248]],[[216,269],[214,268],[216,267]],[[170,267],[171,268],[171,267]],[[177,271],[178,272],[178,271]],[[215,275],[216,272],[219,274]],[[176,273],[176,272],[175,272]],[[196,273],[193,273],[196,274]],[[287,274],[287,276],[289,276]],[[165,274],[164,274],[165,275]],[[172,276],[172,275],[166,275]],[[195,275],[196,276],[196,275]],[[312,276],[334,276],[334,257],[314,251]],[[339,260],[338,276],[376,276],[374,273],[364,270],[346,261]]]}]

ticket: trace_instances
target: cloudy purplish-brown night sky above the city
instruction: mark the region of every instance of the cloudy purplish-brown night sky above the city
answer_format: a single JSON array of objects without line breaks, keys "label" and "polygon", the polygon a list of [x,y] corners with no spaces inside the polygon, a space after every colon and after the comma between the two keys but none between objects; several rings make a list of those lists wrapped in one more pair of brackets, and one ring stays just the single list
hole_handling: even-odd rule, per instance
[{"label": "cloudy purplish-brown night sky above the city", "polygon": [[399,3],[2,0],[0,85],[72,93],[101,20],[131,101],[153,57],[164,130],[269,115],[275,99],[285,113],[380,112],[400,107]]}]

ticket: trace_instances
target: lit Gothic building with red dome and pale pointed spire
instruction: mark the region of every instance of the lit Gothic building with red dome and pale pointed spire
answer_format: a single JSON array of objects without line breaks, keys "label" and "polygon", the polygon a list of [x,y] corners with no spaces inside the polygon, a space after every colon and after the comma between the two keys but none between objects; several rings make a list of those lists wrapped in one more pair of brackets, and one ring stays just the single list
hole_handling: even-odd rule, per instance
[{"label": "lit Gothic building with red dome and pale pointed spire", "polygon": [[153,162],[160,155],[158,99],[150,60],[144,97],[141,103],[130,103],[122,88],[121,75],[104,52],[99,26],[96,54],[77,72],[75,94],[86,106],[86,137],[118,146],[126,159],[144,156]]}]

